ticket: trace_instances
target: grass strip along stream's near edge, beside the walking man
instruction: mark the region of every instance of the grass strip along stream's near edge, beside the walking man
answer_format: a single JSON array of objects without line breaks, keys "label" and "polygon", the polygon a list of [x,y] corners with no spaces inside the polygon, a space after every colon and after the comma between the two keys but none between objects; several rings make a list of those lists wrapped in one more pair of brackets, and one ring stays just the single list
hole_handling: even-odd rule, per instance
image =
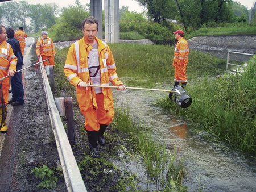
[{"label": "grass strip along stream's near edge, beside the walking man", "polygon": [[129,109],[115,110],[113,127],[129,134],[134,151],[142,157],[150,178],[161,183],[167,191],[187,191],[187,187],[182,186],[185,170],[182,163],[176,161],[175,153],[167,153],[165,146],[154,141],[148,128],[136,126]]}]

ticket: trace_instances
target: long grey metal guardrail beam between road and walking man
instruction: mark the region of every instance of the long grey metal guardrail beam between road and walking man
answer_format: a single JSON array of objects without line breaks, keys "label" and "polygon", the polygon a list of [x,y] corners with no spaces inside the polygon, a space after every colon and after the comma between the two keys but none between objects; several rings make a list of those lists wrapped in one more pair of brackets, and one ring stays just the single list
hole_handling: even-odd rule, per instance
[{"label": "long grey metal guardrail beam between road and walking man", "polygon": [[69,144],[67,134],[64,130],[63,123],[59,115],[59,111],[55,105],[55,100],[52,95],[51,87],[47,78],[44,65],[40,64],[40,69],[43,78],[44,90],[46,92],[46,101],[49,110],[49,116],[55,136],[57,150],[59,153],[60,163],[65,178],[65,183],[68,191],[87,191],[82,180],[81,173],[77,166],[75,157],[72,152],[71,145]]}]

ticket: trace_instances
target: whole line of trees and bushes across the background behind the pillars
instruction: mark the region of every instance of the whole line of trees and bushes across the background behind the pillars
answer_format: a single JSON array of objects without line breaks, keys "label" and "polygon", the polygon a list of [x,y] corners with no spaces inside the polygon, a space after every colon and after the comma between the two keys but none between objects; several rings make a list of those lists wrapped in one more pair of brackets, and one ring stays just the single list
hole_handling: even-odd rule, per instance
[{"label": "whole line of trees and bushes across the background behind the pillars", "polygon": [[[247,24],[249,17],[249,10],[232,0],[136,1],[146,11],[139,14],[121,7],[120,31],[135,31],[156,43],[170,41],[167,31],[176,27],[189,33],[200,27],[223,26],[223,23]],[[53,39],[73,40],[81,35],[81,22],[90,15],[90,4],[82,5],[76,0],[75,5],[60,8],[56,3],[31,5],[24,0],[9,1],[0,4],[0,12],[0,23],[8,27],[22,26],[27,32],[49,30]]]}]

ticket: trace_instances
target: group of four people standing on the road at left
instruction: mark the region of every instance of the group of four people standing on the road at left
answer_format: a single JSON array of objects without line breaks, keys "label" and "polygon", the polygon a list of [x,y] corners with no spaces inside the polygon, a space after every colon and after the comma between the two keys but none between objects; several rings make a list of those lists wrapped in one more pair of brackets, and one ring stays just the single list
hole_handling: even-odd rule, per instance
[{"label": "group of four people standing on the road at left", "polygon": [[[55,65],[54,56],[56,55],[55,47],[47,32],[42,32],[42,37],[36,43],[36,53],[42,57],[46,71],[49,72],[50,67]],[[8,128],[5,123],[7,104],[18,106],[24,104],[24,89],[22,83],[22,66],[24,48],[26,47],[26,32],[23,27],[19,27],[18,31],[13,28],[6,28],[0,24],[0,132],[6,133]],[[8,100],[11,77],[11,99]]]}]

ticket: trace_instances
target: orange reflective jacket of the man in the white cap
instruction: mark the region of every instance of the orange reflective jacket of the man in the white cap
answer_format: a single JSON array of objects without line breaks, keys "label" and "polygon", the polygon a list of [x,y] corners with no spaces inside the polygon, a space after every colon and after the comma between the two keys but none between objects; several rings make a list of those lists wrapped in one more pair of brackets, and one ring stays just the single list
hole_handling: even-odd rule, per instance
[{"label": "orange reflective jacket of the man in the white cap", "polygon": [[40,54],[40,50],[42,49],[41,55],[51,57],[56,54],[55,45],[51,38],[47,37],[46,39],[39,38],[36,43],[36,55]]}]

